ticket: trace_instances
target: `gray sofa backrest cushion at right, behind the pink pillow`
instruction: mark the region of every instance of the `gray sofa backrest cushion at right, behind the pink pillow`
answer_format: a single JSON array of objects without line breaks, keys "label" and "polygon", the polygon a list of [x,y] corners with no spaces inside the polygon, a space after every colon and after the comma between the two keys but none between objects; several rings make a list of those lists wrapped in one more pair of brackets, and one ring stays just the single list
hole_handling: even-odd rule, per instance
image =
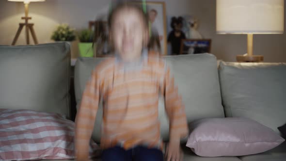
[{"label": "gray sofa backrest cushion at right, behind the pink pillow", "polygon": [[286,123],[286,64],[220,64],[222,101],[227,117],[246,117],[278,132]]}]

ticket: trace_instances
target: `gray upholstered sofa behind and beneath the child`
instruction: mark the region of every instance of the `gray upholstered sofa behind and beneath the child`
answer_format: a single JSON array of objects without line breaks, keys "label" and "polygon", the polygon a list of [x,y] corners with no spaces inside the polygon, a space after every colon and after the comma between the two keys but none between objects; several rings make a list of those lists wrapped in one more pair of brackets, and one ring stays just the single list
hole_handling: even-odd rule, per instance
[{"label": "gray upholstered sofa behind and beneath the child", "polygon": [[[55,112],[70,118],[70,56],[64,43],[0,46],[0,108]],[[104,58],[79,58],[75,94],[79,105],[86,81]],[[188,122],[210,117],[247,117],[277,131],[286,123],[286,64],[221,62],[211,54],[166,56],[185,104]],[[244,97],[241,97],[244,96]],[[79,107],[79,106],[77,106]],[[100,139],[99,109],[93,139]],[[168,119],[159,102],[161,134],[168,141]],[[184,143],[184,141],[183,141]],[[182,144],[184,161],[286,161],[286,143],[242,157],[199,157]]]}]

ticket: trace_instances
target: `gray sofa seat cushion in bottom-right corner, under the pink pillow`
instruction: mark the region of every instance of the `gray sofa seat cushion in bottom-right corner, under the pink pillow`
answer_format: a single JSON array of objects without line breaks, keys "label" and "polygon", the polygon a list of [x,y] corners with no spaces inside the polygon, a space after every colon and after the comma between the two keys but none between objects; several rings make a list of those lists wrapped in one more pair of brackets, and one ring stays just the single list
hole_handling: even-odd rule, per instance
[{"label": "gray sofa seat cushion in bottom-right corner, under the pink pillow", "polygon": [[267,152],[241,156],[242,161],[286,161],[286,142]]}]

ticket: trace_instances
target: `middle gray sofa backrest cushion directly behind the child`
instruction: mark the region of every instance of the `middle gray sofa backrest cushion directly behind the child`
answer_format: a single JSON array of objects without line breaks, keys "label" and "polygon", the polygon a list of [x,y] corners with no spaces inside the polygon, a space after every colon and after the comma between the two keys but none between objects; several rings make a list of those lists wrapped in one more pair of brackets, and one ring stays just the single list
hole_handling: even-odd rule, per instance
[{"label": "middle gray sofa backrest cushion directly behind the child", "polygon": [[[79,108],[85,83],[92,70],[105,58],[79,58],[75,68],[75,90]],[[165,56],[163,58],[175,76],[178,92],[185,105],[188,122],[199,118],[224,117],[216,58],[211,54]],[[100,140],[102,104],[96,114],[93,139]],[[161,136],[169,136],[169,123],[165,114],[163,97],[159,100]]]}]

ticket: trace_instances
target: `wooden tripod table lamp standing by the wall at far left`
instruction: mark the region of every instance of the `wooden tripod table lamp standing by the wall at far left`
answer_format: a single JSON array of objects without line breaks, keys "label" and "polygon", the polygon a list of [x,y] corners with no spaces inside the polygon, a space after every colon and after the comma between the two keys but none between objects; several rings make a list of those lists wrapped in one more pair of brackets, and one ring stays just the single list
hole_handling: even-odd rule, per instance
[{"label": "wooden tripod table lamp standing by the wall at far left", "polygon": [[28,16],[28,13],[29,13],[29,3],[30,2],[35,2],[35,1],[45,1],[45,0],[8,0],[8,1],[18,1],[18,2],[24,2],[25,4],[25,16],[22,17],[22,19],[25,19],[25,23],[19,23],[19,28],[16,32],[16,35],[13,39],[13,42],[12,42],[12,45],[15,45],[16,44],[16,41],[18,40],[19,38],[19,35],[22,31],[22,29],[24,28],[25,26],[25,29],[26,29],[26,42],[27,42],[27,45],[30,44],[30,38],[29,38],[29,30],[32,34],[32,38],[34,40],[34,43],[35,44],[38,44],[38,40],[37,40],[37,37],[36,37],[36,34],[35,34],[35,31],[34,31],[34,28],[33,28],[33,23],[28,23],[28,20],[29,19],[32,19],[32,17],[29,17]]}]

